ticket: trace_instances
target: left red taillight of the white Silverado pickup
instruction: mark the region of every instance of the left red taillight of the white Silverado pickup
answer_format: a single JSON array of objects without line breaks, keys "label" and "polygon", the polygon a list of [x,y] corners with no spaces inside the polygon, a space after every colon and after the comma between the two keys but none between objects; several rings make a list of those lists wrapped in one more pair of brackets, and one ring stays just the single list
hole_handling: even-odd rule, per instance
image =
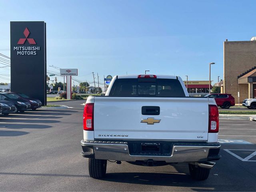
[{"label": "left red taillight of the white Silverado pickup", "polygon": [[93,131],[93,107],[94,103],[87,103],[84,106],[84,130]]}]

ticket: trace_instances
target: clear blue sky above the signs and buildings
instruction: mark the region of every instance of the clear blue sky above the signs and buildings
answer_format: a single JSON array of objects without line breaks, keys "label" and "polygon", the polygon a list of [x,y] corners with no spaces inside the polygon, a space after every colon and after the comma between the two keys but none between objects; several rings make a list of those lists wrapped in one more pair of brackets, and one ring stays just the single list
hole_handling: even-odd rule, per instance
[{"label": "clear blue sky above the signs and buildings", "polygon": [[98,73],[101,84],[107,75],[145,70],[196,81],[209,80],[215,62],[216,83],[223,78],[223,42],[256,36],[255,6],[255,0],[0,0],[0,53],[10,56],[10,21],[44,21],[47,70],[78,68],[76,79],[89,83]]}]

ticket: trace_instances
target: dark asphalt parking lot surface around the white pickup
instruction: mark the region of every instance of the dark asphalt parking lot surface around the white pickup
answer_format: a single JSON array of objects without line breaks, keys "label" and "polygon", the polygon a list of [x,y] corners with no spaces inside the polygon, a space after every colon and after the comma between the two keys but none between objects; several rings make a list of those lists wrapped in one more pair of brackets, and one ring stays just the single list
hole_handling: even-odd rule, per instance
[{"label": "dark asphalt parking lot surface around the white pickup", "polygon": [[187,164],[126,162],[90,178],[80,156],[82,102],[0,117],[0,191],[256,191],[256,122],[248,120],[220,120],[222,158],[205,181],[192,180]]}]

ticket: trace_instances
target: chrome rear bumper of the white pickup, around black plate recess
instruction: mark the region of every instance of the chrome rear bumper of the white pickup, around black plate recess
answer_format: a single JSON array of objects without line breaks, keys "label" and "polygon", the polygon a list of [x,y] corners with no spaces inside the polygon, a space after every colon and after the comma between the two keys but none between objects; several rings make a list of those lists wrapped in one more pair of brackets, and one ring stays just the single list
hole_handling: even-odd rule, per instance
[{"label": "chrome rear bumper of the white pickup, around black plate recess", "polygon": [[[90,152],[96,159],[135,162],[137,160],[172,162],[205,162],[210,149],[220,149],[219,143],[178,145],[174,144],[170,156],[130,155],[127,142],[81,141],[84,152]],[[82,155],[86,157],[85,155]]]}]

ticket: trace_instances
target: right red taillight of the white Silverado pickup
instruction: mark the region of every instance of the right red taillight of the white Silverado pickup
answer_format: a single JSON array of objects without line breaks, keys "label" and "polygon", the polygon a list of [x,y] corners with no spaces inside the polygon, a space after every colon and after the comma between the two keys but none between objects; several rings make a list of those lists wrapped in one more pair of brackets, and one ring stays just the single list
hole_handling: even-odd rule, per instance
[{"label": "right red taillight of the white Silverado pickup", "polygon": [[219,132],[219,110],[216,105],[209,105],[209,133]]}]

